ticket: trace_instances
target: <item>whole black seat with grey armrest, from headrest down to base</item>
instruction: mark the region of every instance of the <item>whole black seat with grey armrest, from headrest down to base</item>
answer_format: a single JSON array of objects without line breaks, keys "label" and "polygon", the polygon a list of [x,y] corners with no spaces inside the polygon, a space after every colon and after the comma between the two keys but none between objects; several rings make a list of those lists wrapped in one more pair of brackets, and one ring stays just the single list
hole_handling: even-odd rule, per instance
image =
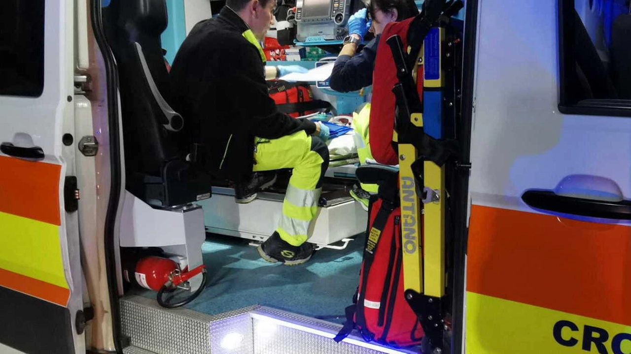
[{"label": "whole black seat with grey armrest, from headrest down to base", "polygon": [[194,189],[209,191],[210,182],[200,182],[176,143],[184,120],[167,103],[165,0],[112,0],[103,22],[118,67],[127,190],[153,205],[194,202]]}]

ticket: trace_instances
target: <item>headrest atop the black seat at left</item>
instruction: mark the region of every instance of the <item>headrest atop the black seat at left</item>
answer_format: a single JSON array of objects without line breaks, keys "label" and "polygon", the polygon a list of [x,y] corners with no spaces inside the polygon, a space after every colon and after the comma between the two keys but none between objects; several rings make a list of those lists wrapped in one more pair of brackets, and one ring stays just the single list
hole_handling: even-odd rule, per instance
[{"label": "headrest atop the black seat at left", "polygon": [[165,0],[125,0],[121,18],[144,35],[160,36],[167,29],[167,3]]}]

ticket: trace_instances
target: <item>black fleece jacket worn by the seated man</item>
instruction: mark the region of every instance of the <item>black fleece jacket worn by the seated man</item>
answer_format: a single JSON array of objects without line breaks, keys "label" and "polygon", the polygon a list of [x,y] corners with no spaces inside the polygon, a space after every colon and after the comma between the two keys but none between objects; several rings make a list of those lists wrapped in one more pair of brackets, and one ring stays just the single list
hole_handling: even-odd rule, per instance
[{"label": "black fleece jacket worn by the seated man", "polygon": [[234,181],[252,173],[254,137],[315,132],[315,123],[276,110],[261,55],[242,35],[248,29],[224,7],[217,18],[194,26],[170,71],[171,104],[184,118],[180,144],[184,149],[203,144],[209,157],[206,168]]}]

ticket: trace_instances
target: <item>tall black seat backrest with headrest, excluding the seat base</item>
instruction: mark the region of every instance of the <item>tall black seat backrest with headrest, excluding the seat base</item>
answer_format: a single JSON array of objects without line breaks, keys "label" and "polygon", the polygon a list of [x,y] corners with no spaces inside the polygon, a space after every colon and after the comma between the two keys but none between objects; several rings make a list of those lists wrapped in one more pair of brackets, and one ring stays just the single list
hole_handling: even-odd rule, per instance
[{"label": "tall black seat backrest with headrest, excluding the seat base", "polygon": [[151,91],[138,46],[153,83],[162,98],[168,100],[168,72],[160,43],[160,35],[167,28],[165,1],[112,1],[107,8],[107,20],[109,41],[119,70],[128,174],[159,175],[163,161],[174,159],[178,153],[170,132],[160,124],[166,117]]}]

